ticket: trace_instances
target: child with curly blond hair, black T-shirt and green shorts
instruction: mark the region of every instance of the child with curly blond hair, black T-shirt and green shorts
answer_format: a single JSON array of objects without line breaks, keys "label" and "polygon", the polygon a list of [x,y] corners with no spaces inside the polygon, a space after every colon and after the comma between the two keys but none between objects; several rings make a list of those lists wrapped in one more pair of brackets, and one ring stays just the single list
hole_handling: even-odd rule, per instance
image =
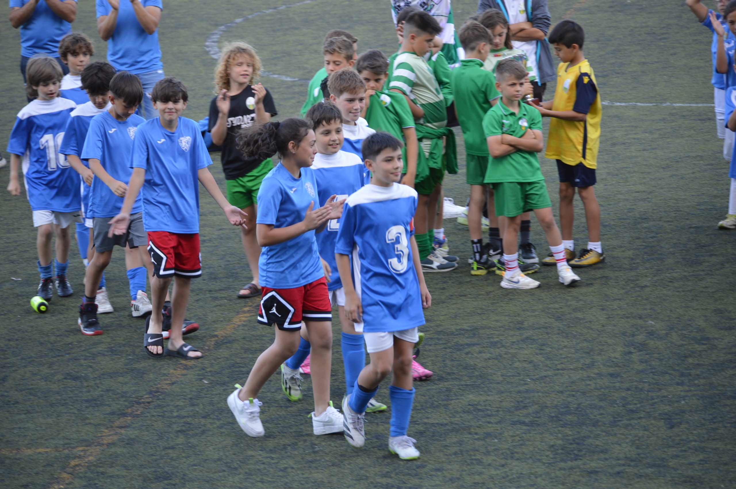
[{"label": "child with curly blond hair, black T-shirt and green shorts", "polygon": [[212,142],[222,146],[220,161],[227,186],[227,201],[248,215],[246,226],[241,226],[241,240],[253,274],[253,279],[238,292],[247,299],[261,295],[258,284],[258,255],[261,247],[255,239],[256,199],[263,177],[274,167],[271,158],[246,158],[236,148],[236,136],[241,129],[255,124],[266,124],[276,115],[276,106],[269,90],[260,83],[252,85],[261,73],[261,60],[255,49],[245,43],[224,46],[215,68],[215,86],[218,95],[210,102]]}]

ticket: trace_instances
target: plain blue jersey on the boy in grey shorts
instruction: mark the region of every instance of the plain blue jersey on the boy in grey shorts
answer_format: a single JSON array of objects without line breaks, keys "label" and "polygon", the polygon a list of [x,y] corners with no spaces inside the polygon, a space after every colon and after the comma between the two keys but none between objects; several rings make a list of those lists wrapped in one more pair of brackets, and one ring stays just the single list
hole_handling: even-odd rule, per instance
[{"label": "plain blue jersey on the boy in grey shorts", "polygon": [[[126,121],[118,121],[107,110],[96,115],[90,122],[85,146],[82,149],[82,158],[99,160],[99,164],[105,168],[107,174],[127,185],[133,174],[130,168],[130,154],[133,150],[135,132],[138,126],[145,121],[146,119],[135,114]],[[101,179],[95,178],[92,180],[89,207],[85,212],[85,218],[115,217],[123,208],[124,199],[124,197],[116,196]],[[138,193],[130,213],[140,212],[141,193]]]}]

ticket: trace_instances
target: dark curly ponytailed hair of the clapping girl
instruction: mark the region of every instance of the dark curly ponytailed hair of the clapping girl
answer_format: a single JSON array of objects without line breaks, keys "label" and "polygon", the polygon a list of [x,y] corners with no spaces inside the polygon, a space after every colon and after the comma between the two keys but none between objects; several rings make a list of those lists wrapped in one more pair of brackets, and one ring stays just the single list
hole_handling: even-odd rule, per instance
[{"label": "dark curly ponytailed hair of the clapping girl", "polygon": [[236,147],[247,158],[266,160],[278,153],[289,151],[289,143],[300,143],[306,137],[311,124],[300,118],[290,117],[281,122],[266,122],[246,127],[238,133]]}]

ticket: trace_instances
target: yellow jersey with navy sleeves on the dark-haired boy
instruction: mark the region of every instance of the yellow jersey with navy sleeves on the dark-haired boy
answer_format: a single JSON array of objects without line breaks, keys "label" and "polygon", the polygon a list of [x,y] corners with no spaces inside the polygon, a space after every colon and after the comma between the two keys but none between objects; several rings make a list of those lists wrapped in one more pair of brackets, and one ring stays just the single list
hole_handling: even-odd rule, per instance
[{"label": "yellow jersey with navy sleeves on the dark-haired boy", "polygon": [[588,60],[570,69],[568,65],[560,63],[557,67],[552,110],[574,110],[587,114],[587,119],[578,122],[551,118],[545,157],[567,165],[583,163],[595,168],[601,138],[601,94]]}]

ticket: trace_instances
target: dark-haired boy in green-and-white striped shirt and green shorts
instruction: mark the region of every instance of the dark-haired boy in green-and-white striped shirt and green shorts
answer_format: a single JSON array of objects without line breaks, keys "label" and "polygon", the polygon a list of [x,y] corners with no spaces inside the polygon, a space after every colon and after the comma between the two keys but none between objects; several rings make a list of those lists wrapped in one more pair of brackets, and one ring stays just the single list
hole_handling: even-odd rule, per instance
[{"label": "dark-haired boy in green-and-white striped shirt and green shorts", "polygon": [[[424,55],[431,49],[432,40],[439,32],[439,24],[430,14],[420,10],[408,15],[404,23],[401,51],[394,61],[389,82],[389,90],[404,96],[417,123],[420,147],[414,188],[419,193],[419,203],[414,225],[422,270],[425,272],[457,268],[457,257],[434,249],[432,230],[445,170],[451,174],[457,173],[455,133],[447,128],[445,98],[434,72],[424,60]],[[445,149],[443,139],[447,145]],[[420,178],[424,174],[426,176]]]}]

